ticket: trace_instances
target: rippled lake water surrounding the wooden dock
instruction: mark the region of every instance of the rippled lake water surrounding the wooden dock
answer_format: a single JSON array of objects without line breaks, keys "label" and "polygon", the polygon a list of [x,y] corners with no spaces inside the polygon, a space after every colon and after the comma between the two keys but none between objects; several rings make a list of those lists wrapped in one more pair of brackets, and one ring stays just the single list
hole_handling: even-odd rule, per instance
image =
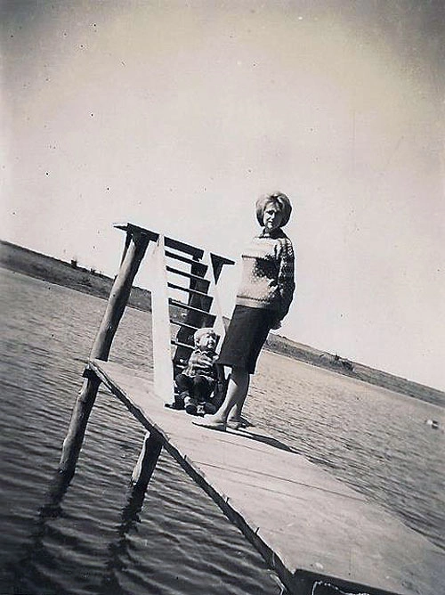
[{"label": "rippled lake water surrounding the wooden dock", "polygon": [[[105,301],[0,269],[0,592],[272,595],[273,573],[165,453],[142,509],[128,482],[144,431],[100,391],[60,514],[39,517]],[[150,369],[150,314],[110,356]],[[444,410],[264,352],[247,415],[445,550]]]}]

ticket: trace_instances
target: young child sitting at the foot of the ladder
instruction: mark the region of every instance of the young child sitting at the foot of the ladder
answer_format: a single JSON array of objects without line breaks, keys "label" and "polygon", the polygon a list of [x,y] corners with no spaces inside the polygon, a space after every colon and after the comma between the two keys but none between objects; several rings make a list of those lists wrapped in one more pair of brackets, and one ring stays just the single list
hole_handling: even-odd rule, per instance
[{"label": "young child sitting at the foot of the ladder", "polygon": [[215,352],[219,336],[213,329],[198,329],[194,336],[195,348],[190,354],[186,368],[174,379],[179,390],[176,406],[185,408],[190,415],[214,413],[216,406],[210,396],[216,386],[218,371]]}]

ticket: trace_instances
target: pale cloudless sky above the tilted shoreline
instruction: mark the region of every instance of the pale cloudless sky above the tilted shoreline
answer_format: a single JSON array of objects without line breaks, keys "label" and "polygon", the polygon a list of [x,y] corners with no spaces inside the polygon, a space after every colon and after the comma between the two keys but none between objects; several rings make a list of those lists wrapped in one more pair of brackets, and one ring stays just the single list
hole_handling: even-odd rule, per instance
[{"label": "pale cloudless sky above the tilted shoreline", "polygon": [[238,261],[286,192],[279,334],[445,389],[441,0],[0,5],[1,239],[113,275],[130,221]]}]

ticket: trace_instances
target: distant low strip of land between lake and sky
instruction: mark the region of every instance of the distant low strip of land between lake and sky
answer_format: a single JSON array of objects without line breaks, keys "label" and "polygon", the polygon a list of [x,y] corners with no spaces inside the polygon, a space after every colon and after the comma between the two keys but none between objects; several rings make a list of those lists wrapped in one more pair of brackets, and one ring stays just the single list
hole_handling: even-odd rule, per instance
[{"label": "distant low strip of land between lake and sky", "polygon": [[[113,279],[107,275],[93,269],[86,269],[74,261],[67,263],[4,240],[0,240],[0,266],[102,299],[108,299],[113,284]],[[134,287],[128,300],[128,306],[151,312],[150,291]],[[287,357],[300,362],[310,363],[319,368],[388,388],[426,403],[445,406],[445,393],[436,388],[425,387],[417,382],[374,370],[361,363],[351,362],[339,355],[329,354],[279,335],[271,334],[265,347],[273,353],[287,355]]]}]

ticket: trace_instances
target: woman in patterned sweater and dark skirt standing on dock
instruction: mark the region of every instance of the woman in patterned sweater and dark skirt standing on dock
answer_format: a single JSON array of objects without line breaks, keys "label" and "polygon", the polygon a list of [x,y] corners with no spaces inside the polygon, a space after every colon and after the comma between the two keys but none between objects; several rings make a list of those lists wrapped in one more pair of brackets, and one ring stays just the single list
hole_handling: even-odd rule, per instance
[{"label": "woman in patterned sweater and dark skirt standing on dock", "polygon": [[231,368],[227,395],[218,412],[198,426],[225,430],[241,428],[241,412],[250,374],[255,372],[269,330],[279,329],[294,296],[294,249],[282,231],[292,206],[286,194],[274,192],[256,201],[256,218],[263,231],[242,254],[243,273],[236,306],[218,363]]}]

